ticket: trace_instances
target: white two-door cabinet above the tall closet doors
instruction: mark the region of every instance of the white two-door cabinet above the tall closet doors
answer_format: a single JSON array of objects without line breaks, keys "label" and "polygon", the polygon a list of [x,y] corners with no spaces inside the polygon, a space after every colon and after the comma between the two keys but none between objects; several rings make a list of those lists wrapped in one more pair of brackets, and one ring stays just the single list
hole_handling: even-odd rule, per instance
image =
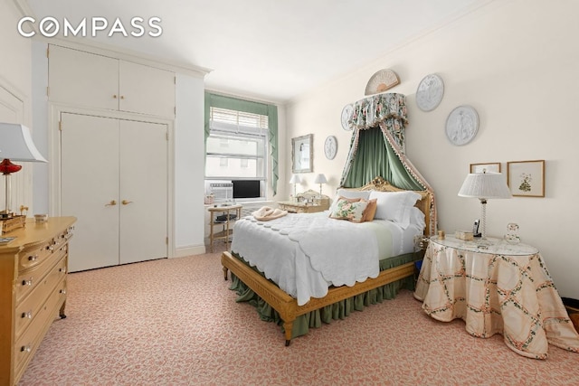
[{"label": "white two-door cabinet above the tall closet doors", "polygon": [[52,44],[48,56],[51,102],[175,117],[174,72]]}]

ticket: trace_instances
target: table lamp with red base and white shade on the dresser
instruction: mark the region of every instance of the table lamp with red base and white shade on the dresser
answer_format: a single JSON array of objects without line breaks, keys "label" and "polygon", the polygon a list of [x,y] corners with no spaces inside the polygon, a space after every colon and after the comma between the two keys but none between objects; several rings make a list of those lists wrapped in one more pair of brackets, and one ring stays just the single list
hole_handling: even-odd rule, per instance
[{"label": "table lamp with red base and white shade on the dresser", "polygon": [[0,122],[0,173],[5,176],[5,209],[0,212],[0,219],[10,219],[14,213],[10,209],[10,174],[22,169],[11,161],[48,162],[33,143],[30,129],[24,125]]}]

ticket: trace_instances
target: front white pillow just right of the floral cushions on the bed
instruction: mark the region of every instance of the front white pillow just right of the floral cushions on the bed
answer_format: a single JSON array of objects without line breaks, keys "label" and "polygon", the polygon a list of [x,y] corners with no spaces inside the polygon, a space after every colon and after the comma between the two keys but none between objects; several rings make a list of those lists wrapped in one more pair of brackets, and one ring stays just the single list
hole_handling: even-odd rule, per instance
[{"label": "front white pillow just right of the floral cushions on the bed", "polygon": [[407,192],[370,192],[370,200],[376,199],[378,207],[375,219],[396,222],[403,229],[410,225],[410,215],[414,204],[422,196],[419,193]]}]

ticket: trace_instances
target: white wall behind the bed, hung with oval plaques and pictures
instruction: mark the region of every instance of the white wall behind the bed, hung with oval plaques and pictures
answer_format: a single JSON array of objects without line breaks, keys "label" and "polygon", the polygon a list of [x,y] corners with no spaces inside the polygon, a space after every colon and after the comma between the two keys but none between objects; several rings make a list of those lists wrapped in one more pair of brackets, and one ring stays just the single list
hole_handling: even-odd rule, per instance
[{"label": "white wall behind the bed, hung with oval plaques and pictures", "polygon": [[[291,137],[314,134],[314,173],[305,175],[302,189],[316,189],[315,174],[325,173],[330,184],[324,193],[334,193],[351,135],[341,128],[341,110],[364,98],[375,71],[394,70],[401,84],[391,91],[407,96],[407,155],[432,184],[439,229],[470,229],[479,217],[477,200],[457,196],[470,164],[499,162],[506,174],[508,161],[545,159],[546,197],[489,201],[487,232],[502,236],[508,222],[517,222],[523,242],[540,249],[561,296],[579,298],[574,250],[579,215],[579,181],[574,178],[579,170],[577,14],[574,0],[492,2],[296,99],[288,107],[286,149]],[[434,72],[444,80],[444,97],[438,108],[423,112],[416,107],[415,91]],[[452,146],[445,121],[464,104],[477,109],[479,133],[466,146]],[[323,155],[329,135],[338,139],[332,161]],[[285,163],[283,182],[289,181],[289,154]]]}]

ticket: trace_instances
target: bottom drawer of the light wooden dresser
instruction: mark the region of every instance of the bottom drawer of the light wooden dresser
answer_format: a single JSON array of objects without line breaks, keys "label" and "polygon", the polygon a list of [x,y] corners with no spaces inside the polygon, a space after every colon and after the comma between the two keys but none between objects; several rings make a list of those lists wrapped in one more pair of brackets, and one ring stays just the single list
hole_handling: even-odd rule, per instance
[{"label": "bottom drawer of the light wooden dresser", "polygon": [[44,334],[52,325],[52,320],[58,317],[59,309],[66,299],[66,277],[62,278],[58,286],[54,288],[51,296],[40,308],[39,312],[24,330],[24,334],[16,339],[13,347],[15,379],[19,379],[24,372],[34,352],[41,344]]}]

